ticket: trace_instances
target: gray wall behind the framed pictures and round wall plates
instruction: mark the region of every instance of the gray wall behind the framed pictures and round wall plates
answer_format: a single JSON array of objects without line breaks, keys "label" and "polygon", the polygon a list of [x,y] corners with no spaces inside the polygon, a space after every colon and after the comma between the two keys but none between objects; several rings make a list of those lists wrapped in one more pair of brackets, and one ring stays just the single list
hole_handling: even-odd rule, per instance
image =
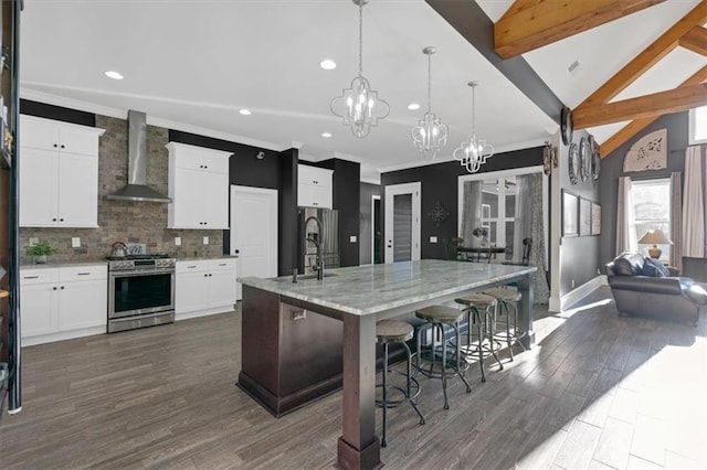
[{"label": "gray wall behind the framed pictures and round wall plates", "polygon": [[[588,133],[584,130],[574,131],[572,138],[573,142],[580,143],[582,137],[587,137]],[[601,183],[602,175],[600,174],[600,182],[594,184],[591,177],[587,181],[579,179],[577,184],[570,183],[570,177],[568,172],[568,159],[569,159],[569,146],[563,146],[560,142],[560,159],[562,164],[560,165],[560,189],[568,191],[572,194],[577,194],[580,197],[588,199],[593,202],[600,201],[599,185]],[[603,163],[603,162],[602,162]],[[603,172],[603,167],[602,170]],[[552,189],[550,191],[553,191]],[[561,201],[561,196],[560,196]],[[602,218],[605,211],[602,207]],[[606,227],[602,226],[602,233]],[[597,277],[597,270],[599,269],[599,245],[600,236],[567,236],[561,238],[560,244],[560,297],[570,292],[572,289],[581,286],[582,284]],[[557,266],[558,260],[550,260],[550,266]],[[550,268],[552,269],[552,268]]]}]

